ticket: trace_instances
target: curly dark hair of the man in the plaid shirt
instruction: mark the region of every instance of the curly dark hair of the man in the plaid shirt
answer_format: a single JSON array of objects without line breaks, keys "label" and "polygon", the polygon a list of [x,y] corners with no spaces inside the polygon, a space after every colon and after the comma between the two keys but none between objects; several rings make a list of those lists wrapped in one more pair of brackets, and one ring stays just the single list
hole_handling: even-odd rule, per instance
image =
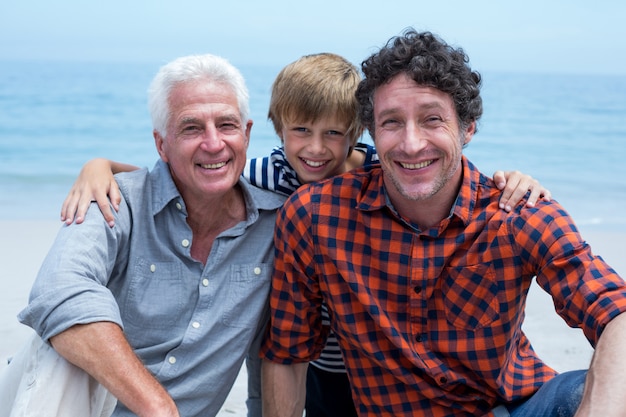
[{"label": "curly dark hair of the man in the plaid shirt", "polygon": [[374,92],[400,73],[449,94],[461,128],[478,121],[483,112],[481,76],[468,62],[463,49],[453,48],[431,32],[409,28],[391,38],[361,64],[364,78],[356,92],[361,123],[374,137]]}]

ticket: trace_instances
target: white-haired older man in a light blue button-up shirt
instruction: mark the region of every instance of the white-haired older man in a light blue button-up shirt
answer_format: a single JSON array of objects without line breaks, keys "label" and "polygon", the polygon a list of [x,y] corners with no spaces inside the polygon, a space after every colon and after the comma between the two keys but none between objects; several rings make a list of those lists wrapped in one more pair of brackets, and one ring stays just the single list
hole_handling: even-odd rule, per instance
[{"label": "white-haired older man in a light blue button-up shirt", "polygon": [[[117,398],[114,416],[212,416],[246,356],[258,357],[284,198],[241,177],[252,121],[244,80],[225,60],[165,65],[149,106],[160,160],[117,177],[114,227],[90,210],[59,232],[20,313],[42,340],[26,360],[58,352]],[[31,392],[67,399],[58,373],[26,372]],[[20,395],[15,407],[25,407]],[[52,407],[42,408],[63,414]]]}]

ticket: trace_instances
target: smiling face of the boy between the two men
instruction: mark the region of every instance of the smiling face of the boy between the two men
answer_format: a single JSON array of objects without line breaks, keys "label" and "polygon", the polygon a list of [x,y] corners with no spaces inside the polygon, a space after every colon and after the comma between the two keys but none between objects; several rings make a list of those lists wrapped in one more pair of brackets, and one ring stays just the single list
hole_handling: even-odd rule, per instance
[{"label": "smiling face of the boy between the two men", "polygon": [[285,123],[285,156],[301,183],[320,181],[346,171],[351,141],[348,126],[334,118],[316,122]]}]

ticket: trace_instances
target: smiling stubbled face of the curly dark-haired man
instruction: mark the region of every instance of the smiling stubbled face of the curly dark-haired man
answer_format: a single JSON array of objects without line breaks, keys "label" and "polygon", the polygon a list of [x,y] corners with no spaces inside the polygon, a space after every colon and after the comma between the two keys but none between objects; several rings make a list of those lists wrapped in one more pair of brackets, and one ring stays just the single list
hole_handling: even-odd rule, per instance
[{"label": "smiling stubbled face of the curly dark-haired man", "polygon": [[433,197],[456,198],[463,145],[475,123],[461,130],[452,98],[396,75],[374,94],[375,144],[385,187],[396,208]]}]

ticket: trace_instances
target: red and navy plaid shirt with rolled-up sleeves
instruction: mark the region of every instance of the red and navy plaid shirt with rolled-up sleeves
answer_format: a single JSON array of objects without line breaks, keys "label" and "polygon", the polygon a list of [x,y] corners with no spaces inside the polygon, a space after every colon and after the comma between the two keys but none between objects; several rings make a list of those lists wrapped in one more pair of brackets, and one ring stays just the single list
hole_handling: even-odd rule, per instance
[{"label": "red and navy plaid shirt with rolled-up sleeves", "polygon": [[557,202],[514,212],[463,159],[449,218],[417,230],[388,204],[379,165],[300,188],[279,213],[262,356],[324,347],[324,299],[361,416],[467,416],[533,394],[555,371],[522,331],[534,276],[595,346],[626,284]]}]

